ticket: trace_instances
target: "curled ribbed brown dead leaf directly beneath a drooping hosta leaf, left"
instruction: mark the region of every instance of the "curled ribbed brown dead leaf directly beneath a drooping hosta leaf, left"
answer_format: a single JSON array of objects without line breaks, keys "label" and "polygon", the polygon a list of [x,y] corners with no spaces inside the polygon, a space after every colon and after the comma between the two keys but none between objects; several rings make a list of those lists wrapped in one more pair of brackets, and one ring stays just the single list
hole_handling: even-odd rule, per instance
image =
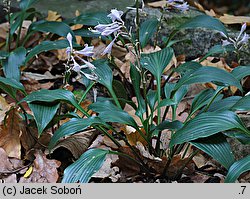
[{"label": "curled ribbed brown dead leaf directly beneath a drooping hosta leaf, left", "polygon": [[61,140],[52,150],[52,152],[60,147],[68,149],[75,159],[78,159],[90,146],[97,131],[95,129],[87,130],[82,133],[71,135]]}]

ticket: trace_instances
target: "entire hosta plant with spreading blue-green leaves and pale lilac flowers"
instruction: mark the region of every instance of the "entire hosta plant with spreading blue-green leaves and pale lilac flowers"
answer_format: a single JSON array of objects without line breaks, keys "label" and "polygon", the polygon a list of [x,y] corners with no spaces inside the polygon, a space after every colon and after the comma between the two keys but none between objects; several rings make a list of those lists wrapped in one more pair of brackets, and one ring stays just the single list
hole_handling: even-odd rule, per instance
[{"label": "entire hosta plant with spreading blue-green leaves and pale lilac flowers", "polygon": [[[63,36],[65,39],[44,41],[28,53],[23,47],[20,47],[8,56],[8,64],[13,59],[27,63],[44,50],[67,47],[68,59],[65,63],[64,83],[65,85],[69,83],[73,72],[82,75],[87,82],[87,88],[80,100],[77,100],[71,91],[65,89],[40,90],[26,95],[19,82],[20,75],[12,73],[9,71],[11,67],[5,67],[5,65],[3,66],[6,78],[0,78],[1,88],[14,99],[16,99],[18,90],[24,93],[25,97],[18,105],[21,106],[23,102],[28,103],[33,112],[33,120],[36,122],[39,135],[56,124],[60,120],[60,116],[61,118],[71,118],[54,132],[49,144],[50,150],[61,139],[89,128],[94,128],[108,136],[116,145],[116,150],[88,149],[65,169],[62,182],[88,182],[91,176],[101,168],[107,154],[116,154],[134,161],[146,176],[160,175],[166,179],[175,180],[181,176],[185,166],[200,151],[210,155],[228,171],[225,182],[234,182],[243,172],[250,170],[250,156],[235,160],[227,142],[227,137],[234,137],[242,143],[249,144],[250,131],[237,115],[237,111],[250,110],[250,98],[245,95],[241,85],[242,80],[250,75],[250,66],[238,66],[232,72],[212,66],[202,66],[200,62],[208,56],[225,51],[235,51],[235,48],[238,47],[230,46],[233,43],[225,44],[224,41],[223,45],[213,47],[200,61],[186,62],[176,68],[168,67],[174,56],[170,41],[179,30],[203,27],[218,31],[229,38],[226,28],[217,19],[201,15],[175,30],[169,36],[166,47],[151,53],[144,53],[143,48],[151,42],[157,32],[157,27],[161,24],[158,19],[140,23],[139,1],[136,1],[136,4],[137,15],[134,32],[124,25],[123,13],[116,9],[111,10],[107,16],[86,14],[69,20],[69,25],[84,24],[88,26],[88,29],[83,28],[75,32],[63,22],[52,24],[38,21],[31,25],[30,35],[33,31],[51,32]],[[185,11],[186,4],[184,6]],[[110,41],[102,52],[103,57],[107,55],[108,58],[93,61],[91,57],[94,54],[94,47],[88,45],[80,47],[75,44],[75,35],[85,38],[99,37]],[[130,97],[135,98],[133,101],[129,98],[118,97],[118,91],[115,89],[117,80],[114,80],[112,69],[117,67],[111,52],[116,42],[123,45],[134,58],[134,61],[130,63],[130,79],[128,80],[132,89],[126,87],[126,84],[124,84],[125,87],[123,84],[119,84],[119,88],[125,92],[132,90]],[[15,67],[19,66],[20,64],[17,64]],[[191,85],[201,83],[211,83],[215,86],[198,93],[192,100],[188,116],[184,120],[178,120],[178,107]],[[86,110],[80,104],[96,84],[106,88],[108,97],[95,99]],[[231,88],[237,89],[240,96],[228,97],[228,90]],[[62,103],[70,104],[75,111],[58,115]],[[124,109],[126,104],[134,109],[134,115]],[[96,114],[89,114],[89,110]],[[131,143],[129,136],[117,130],[114,123],[132,129],[132,133],[138,137],[137,142]],[[163,144],[162,137],[166,134],[169,142]],[[121,140],[129,148],[129,154],[124,152]],[[183,159],[182,166],[174,175],[170,175],[169,168],[177,156]],[[152,162],[160,165],[162,169],[155,170]]]}]

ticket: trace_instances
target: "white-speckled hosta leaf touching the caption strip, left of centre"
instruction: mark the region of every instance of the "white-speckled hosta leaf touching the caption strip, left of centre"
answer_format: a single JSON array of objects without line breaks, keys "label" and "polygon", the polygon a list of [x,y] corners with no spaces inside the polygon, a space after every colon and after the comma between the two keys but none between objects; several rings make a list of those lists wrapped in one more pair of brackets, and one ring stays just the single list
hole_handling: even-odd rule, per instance
[{"label": "white-speckled hosta leaf touching the caption strip, left of centre", "polygon": [[65,169],[62,183],[89,182],[91,176],[101,168],[108,153],[103,149],[89,149]]}]

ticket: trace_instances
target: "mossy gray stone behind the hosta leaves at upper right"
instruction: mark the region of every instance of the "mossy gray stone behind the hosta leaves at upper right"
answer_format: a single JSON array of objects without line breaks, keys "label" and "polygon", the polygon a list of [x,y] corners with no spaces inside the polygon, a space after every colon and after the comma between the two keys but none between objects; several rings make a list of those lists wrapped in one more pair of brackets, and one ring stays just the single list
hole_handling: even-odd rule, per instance
[{"label": "mossy gray stone behind the hosta leaves at upper right", "polygon": [[[170,33],[175,30],[181,24],[184,24],[188,20],[196,17],[198,15],[203,15],[204,13],[191,8],[185,13],[178,11],[165,11],[163,14],[163,22],[161,24],[161,30],[158,35],[159,44],[163,44],[163,38],[169,37]],[[129,27],[134,27],[136,11],[130,10],[126,13],[125,24]],[[160,9],[156,8],[144,8],[143,12],[140,12],[141,22],[150,18],[160,19],[162,12]],[[239,31],[234,31],[228,29],[229,35],[231,37],[236,37]],[[205,55],[211,47],[216,44],[221,44],[222,36],[218,31],[205,29],[205,28],[196,28],[196,29],[186,29],[181,30],[174,37],[174,40],[180,40],[180,42],[173,45],[176,55],[184,54],[186,55],[187,60],[192,60],[194,58]],[[250,45],[244,49],[244,51],[250,52]],[[231,61],[237,61],[234,54],[225,55],[229,63]],[[241,54],[242,64],[250,64],[250,56],[247,54]]]}]

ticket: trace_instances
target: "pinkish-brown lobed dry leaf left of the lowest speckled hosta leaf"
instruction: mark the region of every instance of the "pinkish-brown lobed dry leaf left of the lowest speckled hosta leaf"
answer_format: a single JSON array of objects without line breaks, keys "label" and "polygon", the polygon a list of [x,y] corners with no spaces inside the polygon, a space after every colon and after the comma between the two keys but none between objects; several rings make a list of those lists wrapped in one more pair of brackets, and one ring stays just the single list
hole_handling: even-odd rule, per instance
[{"label": "pinkish-brown lobed dry leaf left of the lowest speckled hosta leaf", "polygon": [[49,160],[41,151],[34,154],[33,171],[28,178],[21,177],[21,183],[56,183],[58,180],[57,168],[61,165],[58,160]]}]

